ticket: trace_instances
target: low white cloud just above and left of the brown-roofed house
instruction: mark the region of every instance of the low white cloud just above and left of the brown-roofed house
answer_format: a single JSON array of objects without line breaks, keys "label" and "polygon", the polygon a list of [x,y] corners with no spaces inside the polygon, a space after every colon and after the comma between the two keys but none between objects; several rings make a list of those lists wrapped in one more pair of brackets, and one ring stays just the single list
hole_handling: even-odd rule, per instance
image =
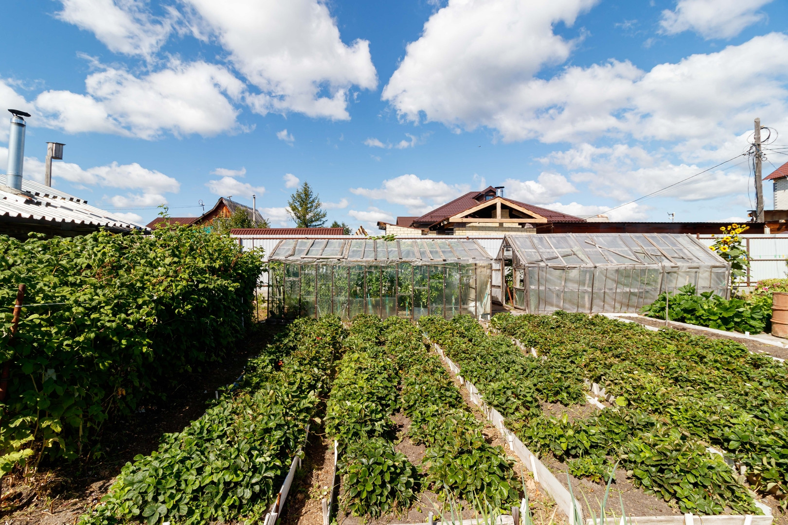
[{"label": "low white cloud just above and left of the brown-roofed house", "polygon": [[375,200],[385,199],[391,204],[406,206],[408,213],[421,214],[470,191],[470,187],[467,184],[447,184],[432,179],[419,179],[415,175],[401,175],[384,180],[379,188],[359,187],[350,190],[352,194]]}]

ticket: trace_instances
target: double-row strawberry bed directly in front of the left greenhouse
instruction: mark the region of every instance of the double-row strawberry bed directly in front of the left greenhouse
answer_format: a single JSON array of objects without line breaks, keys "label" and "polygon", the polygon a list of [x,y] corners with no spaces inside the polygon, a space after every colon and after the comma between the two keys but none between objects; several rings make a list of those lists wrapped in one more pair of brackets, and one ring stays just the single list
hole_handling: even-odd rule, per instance
[{"label": "double-row strawberry bed directly in front of the left greenhouse", "polygon": [[414,324],[357,316],[344,345],[325,418],[340,444],[340,523],[426,523],[448,501],[466,519],[520,504],[519,473]]}]

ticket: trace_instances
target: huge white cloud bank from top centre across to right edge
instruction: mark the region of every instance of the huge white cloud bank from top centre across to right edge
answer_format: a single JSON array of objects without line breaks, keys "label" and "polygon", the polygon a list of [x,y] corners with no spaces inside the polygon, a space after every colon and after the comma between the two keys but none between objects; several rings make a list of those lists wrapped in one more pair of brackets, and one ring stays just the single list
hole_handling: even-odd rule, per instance
[{"label": "huge white cloud bank from top centre across to right edge", "polygon": [[530,6],[527,15],[515,3],[469,0],[440,9],[407,47],[383,98],[407,119],[423,115],[468,130],[485,126],[507,142],[629,135],[701,140],[693,143],[697,149],[751,128],[756,114],[788,115],[788,36],[782,33],[649,72],[611,60],[541,79],[536,73],[542,65],[563,61],[571,50],[552,33],[553,21],[563,16],[571,22],[589,2],[545,2]]}]

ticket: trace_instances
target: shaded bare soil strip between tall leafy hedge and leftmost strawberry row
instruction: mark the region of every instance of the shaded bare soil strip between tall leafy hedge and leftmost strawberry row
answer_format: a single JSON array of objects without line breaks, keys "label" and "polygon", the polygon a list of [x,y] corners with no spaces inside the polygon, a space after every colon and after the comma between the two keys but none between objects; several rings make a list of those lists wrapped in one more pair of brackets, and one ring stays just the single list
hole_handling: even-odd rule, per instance
[{"label": "shaded bare soil strip between tall leafy hedge and leftmost strawberry row", "polygon": [[152,399],[132,416],[118,418],[99,436],[101,456],[70,464],[42,464],[35,475],[13,472],[2,479],[2,525],[66,525],[95,506],[107,493],[121,468],[137,454],[158,449],[162,434],[180,432],[205,412],[216,390],[232,385],[247,358],[258,353],[272,333],[258,327],[221,363],[182,375],[166,397]]}]

